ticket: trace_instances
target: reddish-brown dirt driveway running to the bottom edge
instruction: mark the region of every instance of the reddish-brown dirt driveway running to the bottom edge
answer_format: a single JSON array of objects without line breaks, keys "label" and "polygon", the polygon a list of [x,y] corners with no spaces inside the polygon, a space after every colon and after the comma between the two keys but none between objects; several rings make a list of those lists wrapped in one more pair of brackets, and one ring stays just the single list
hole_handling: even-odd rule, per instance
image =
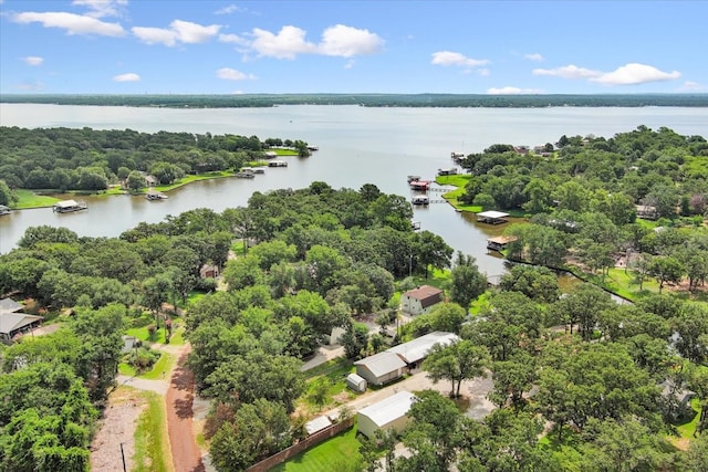
[{"label": "reddish-brown dirt driveway running to the bottom edge", "polygon": [[192,431],[194,375],[185,366],[190,348],[187,346],[173,370],[167,390],[167,431],[176,472],[205,472],[201,452]]}]

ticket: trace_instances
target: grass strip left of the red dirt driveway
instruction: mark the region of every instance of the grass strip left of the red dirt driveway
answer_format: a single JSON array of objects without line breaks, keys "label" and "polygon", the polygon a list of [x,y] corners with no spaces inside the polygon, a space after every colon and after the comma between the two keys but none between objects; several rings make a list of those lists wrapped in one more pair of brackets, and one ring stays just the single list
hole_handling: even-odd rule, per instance
[{"label": "grass strip left of the red dirt driveway", "polygon": [[163,397],[143,392],[147,399],[147,409],[140,415],[135,429],[135,463],[137,472],[173,471],[171,452],[167,439],[167,418]]}]

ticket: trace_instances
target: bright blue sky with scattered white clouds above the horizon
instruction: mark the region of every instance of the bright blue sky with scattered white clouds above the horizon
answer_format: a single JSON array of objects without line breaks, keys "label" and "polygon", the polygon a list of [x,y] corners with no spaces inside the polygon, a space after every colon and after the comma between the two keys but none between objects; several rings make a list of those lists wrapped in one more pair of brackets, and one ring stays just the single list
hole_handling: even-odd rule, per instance
[{"label": "bright blue sky with scattered white clouds above the horizon", "polygon": [[706,1],[0,0],[0,93],[706,93]]}]

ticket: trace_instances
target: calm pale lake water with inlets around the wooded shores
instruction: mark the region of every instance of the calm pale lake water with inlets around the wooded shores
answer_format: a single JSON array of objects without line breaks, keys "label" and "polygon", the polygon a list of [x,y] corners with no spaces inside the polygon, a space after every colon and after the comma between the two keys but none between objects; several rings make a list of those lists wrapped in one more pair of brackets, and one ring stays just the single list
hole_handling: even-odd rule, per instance
[{"label": "calm pale lake water with inlets around the wooded shores", "polygon": [[[333,188],[374,183],[386,193],[409,196],[406,176],[433,179],[450,167],[451,151],[479,153],[492,144],[535,146],[566,136],[605,136],[639,125],[662,126],[683,135],[708,136],[708,108],[368,108],[361,106],[279,106],[273,108],[134,108],[0,104],[0,125],[91,127],[235,134],[303,139],[319,146],[309,158],[290,158],[287,168],[268,168],[254,179],[218,179],[190,183],[169,199],[90,197],[88,210],[56,214],[51,209],[14,211],[0,218],[0,253],[15,247],[32,225],[66,227],[80,235],[117,237],[140,221],[155,223],[195,208],[221,212],[246,206],[253,191],[303,188],[325,181]],[[438,193],[431,197],[437,199]],[[447,203],[416,208],[421,229],[442,237],[455,250],[477,258],[489,276],[504,272],[503,261],[487,252],[486,240],[504,225],[478,224],[471,214]]]}]

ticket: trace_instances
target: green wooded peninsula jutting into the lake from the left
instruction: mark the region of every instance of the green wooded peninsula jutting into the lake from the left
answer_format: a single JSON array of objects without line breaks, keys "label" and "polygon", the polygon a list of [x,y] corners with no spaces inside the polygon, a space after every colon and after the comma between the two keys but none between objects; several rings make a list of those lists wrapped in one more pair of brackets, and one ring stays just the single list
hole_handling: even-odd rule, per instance
[{"label": "green wooded peninsula jutting into the lake from the left", "polygon": [[12,189],[101,191],[111,185],[146,186],[146,175],[169,185],[185,175],[238,170],[262,160],[272,147],[289,147],[308,156],[300,139],[239,135],[155,134],[88,127],[0,127],[0,204],[13,202]]}]

